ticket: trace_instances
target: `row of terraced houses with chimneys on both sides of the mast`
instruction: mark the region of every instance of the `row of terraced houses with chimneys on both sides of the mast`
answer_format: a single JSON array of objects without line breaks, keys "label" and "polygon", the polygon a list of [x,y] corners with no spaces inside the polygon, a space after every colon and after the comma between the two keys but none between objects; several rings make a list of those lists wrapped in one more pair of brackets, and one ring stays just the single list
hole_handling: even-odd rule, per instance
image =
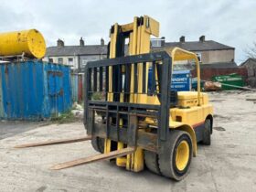
[{"label": "row of terraced houses with chimneys on both sides of the mast", "polygon": [[[165,37],[153,38],[151,47],[153,50],[158,48],[184,48],[195,52],[201,64],[216,64],[222,67],[237,66],[234,62],[235,48],[214,40],[206,40],[205,36],[199,37],[198,41],[186,41],[183,36],[180,37],[178,42],[165,42]],[[64,41],[59,39],[57,46],[47,48],[44,60],[63,63],[71,66],[71,69],[82,71],[88,61],[106,59],[107,52],[107,46],[104,45],[102,38],[100,45],[84,45],[84,40],[81,37],[80,44],[77,46],[66,46]]]}]

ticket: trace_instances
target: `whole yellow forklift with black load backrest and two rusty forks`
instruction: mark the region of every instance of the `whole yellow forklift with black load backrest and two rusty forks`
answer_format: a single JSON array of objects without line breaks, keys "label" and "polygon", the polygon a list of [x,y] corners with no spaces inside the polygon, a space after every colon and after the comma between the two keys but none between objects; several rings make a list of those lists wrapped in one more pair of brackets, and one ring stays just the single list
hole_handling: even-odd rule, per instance
[{"label": "whole yellow forklift with black load backrest and two rusty forks", "polygon": [[[159,23],[149,16],[114,24],[109,59],[87,64],[84,125],[88,136],[16,147],[91,140],[101,154],[52,169],[111,159],[133,172],[144,170],[145,165],[175,180],[187,176],[197,143],[210,144],[213,108],[208,95],[200,92],[197,55],[181,48],[151,52],[151,35],[158,37]],[[196,63],[197,91],[171,91],[173,64],[180,60]]]}]

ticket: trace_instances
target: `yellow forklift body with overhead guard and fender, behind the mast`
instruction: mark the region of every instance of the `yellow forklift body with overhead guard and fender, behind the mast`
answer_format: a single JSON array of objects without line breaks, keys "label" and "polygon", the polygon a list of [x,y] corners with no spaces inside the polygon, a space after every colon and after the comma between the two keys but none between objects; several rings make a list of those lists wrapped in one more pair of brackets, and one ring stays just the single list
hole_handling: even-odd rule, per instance
[{"label": "yellow forklift body with overhead guard and fender, behind the mast", "polygon": [[[156,50],[157,51],[157,50]],[[170,109],[169,127],[190,134],[193,144],[193,155],[197,155],[197,137],[194,128],[205,122],[208,115],[213,115],[213,107],[208,102],[208,94],[200,90],[200,66],[197,55],[182,48],[165,48],[172,58],[172,64],[181,60],[194,60],[197,66],[197,91],[178,91],[178,103],[176,108]],[[174,69],[174,68],[172,68]],[[159,105],[156,96],[148,97],[148,103]],[[156,125],[150,118],[147,123]]]}]

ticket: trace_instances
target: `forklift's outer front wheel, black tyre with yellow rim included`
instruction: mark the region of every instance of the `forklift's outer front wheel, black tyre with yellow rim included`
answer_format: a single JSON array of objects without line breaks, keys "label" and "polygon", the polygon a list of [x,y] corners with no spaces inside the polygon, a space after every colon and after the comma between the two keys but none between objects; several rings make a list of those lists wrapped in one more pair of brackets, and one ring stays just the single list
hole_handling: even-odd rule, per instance
[{"label": "forklift's outer front wheel, black tyre with yellow rim included", "polygon": [[187,132],[170,131],[164,153],[159,154],[159,168],[163,176],[176,181],[187,176],[192,159],[192,140]]}]

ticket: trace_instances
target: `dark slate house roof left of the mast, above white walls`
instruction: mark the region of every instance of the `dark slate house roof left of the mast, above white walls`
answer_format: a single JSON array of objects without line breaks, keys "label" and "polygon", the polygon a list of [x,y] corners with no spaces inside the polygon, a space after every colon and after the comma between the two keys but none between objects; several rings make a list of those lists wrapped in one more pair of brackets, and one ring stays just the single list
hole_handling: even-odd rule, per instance
[{"label": "dark slate house roof left of the mast, above white walls", "polygon": [[47,48],[46,56],[107,55],[107,46],[64,46]]}]

